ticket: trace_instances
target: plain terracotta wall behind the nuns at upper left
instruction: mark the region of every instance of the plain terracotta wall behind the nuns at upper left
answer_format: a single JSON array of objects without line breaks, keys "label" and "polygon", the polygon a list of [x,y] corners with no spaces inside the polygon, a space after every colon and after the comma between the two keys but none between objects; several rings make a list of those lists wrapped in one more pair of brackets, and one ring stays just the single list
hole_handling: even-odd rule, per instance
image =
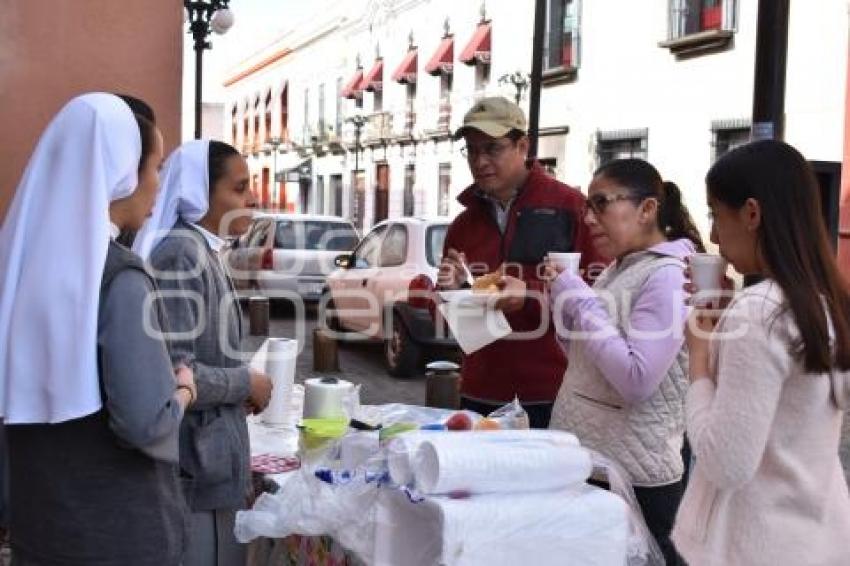
[{"label": "plain terracotta wall behind the nuns at upper left", "polygon": [[0,130],[0,222],[42,131],[78,94],[143,98],[156,111],[166,151],[180,143],[180,5],[6,0],[0,6],[0,123],[5,126]]}]

